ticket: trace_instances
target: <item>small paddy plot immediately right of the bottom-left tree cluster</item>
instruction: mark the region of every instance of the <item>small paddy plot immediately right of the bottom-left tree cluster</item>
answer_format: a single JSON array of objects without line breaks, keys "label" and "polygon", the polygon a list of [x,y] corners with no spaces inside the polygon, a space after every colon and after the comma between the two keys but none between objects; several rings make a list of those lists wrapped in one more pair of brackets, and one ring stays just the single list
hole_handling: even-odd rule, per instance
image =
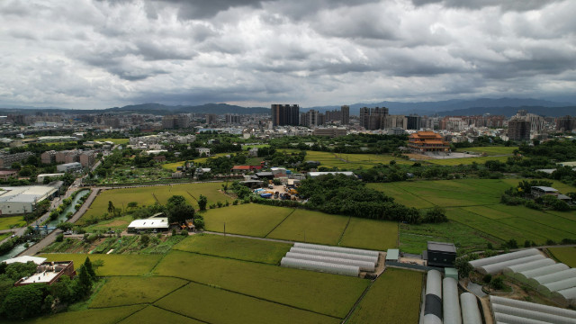
[{"label": "small paddy plot immediately right of the bottom-left tree cluster", "polygon": [[188,284],[170,277],[111,277],[90,303],[90,308],[103,308],[156,302]]}]

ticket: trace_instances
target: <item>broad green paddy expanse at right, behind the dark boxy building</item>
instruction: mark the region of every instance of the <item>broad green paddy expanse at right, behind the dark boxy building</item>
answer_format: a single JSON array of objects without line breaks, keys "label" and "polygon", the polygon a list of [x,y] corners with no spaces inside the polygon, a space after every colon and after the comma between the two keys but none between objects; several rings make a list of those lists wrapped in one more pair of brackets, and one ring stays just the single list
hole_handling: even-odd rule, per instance
[{"label": "broad green paddy expanse at right, behind the dark boxy building", "polygon": [[[500,244],[516,239],[544,245],[551,239],[576,238],[576,211],[536,211],[524,206],[500,203],[501,194],[522,179],[462,179],[368,184],[395,198],[397,202],[419,209],[434,205],[446,208],[450,220],[445,224],[401,224],[400,247],[420,253],[428,240],[454,241],[466,249]],[[576,188],[554,182],[562,193]]]}]

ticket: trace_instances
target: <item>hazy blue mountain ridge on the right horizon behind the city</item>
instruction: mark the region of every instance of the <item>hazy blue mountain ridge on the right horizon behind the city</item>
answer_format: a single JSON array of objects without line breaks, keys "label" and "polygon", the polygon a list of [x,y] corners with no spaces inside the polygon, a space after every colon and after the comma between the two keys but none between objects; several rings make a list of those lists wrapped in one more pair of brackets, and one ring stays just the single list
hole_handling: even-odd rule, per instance
[{"label": "hazy blue mountain ridge on the right horizon behind the city", "polygon": [[490,113],[492,115],[505,115],[511,117],[524,109],[530,113],[536,113],[541,116],[561,117],[565,115],[576,115],[576,105],[568,107],[542,107],[542,106],[523,106],[523,107],[473,107],[467,109],[458,109],[449,112],[437,112],[440,116],[472,116]]}]

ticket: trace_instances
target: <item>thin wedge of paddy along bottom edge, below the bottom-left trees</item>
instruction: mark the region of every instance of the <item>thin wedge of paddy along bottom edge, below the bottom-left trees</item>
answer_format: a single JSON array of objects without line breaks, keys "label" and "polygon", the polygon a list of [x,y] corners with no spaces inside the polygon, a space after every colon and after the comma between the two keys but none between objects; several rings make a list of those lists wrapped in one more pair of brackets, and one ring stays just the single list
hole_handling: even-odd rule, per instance
[{"label": "thin wedge of paddy along bottom edge, below the bottom-left trees", "polygon": [[134,305],[134,306],[124,306],[124,307],[114,307],[105,308],[98,310],[85,310],[85,311],[67,311],[61,312],[55,315],[42,316],[40,318],[31,320],[14,320],[7,321],[2,320],[3,323],[11,324],[49,324],[49,323],[60,323],[60,324],[115,324],[120,320],[129,317],[131,314],[144,308],[144,305]]}]

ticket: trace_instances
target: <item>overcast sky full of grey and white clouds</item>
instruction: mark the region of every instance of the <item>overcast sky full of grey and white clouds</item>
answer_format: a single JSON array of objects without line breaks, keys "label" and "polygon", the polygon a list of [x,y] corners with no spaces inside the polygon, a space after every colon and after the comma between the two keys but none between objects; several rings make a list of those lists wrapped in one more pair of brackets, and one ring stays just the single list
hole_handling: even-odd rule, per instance
[{"label": "overcast sky full of grey and white clouds", "polygon": [[576,99],[576,1],[2,0],[0,105]]}]

